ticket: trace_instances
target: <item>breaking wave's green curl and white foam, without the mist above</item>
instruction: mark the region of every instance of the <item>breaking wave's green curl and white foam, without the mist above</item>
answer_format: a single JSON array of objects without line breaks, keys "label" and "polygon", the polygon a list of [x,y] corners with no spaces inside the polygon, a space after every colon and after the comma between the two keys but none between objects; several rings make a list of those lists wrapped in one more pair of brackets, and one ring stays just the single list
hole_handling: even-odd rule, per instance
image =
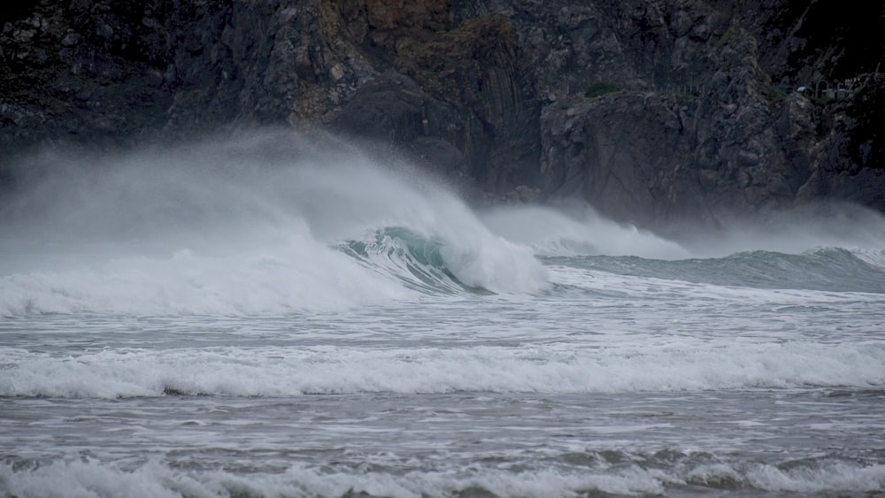
[{"label": "breaking wave's green curl and white foam, without the mist above", "polygon": [[415,291],[534,293],[547,280],[530,251],[505,241],[453,244],[392,227],[327,246],[289,233],[287,241],[232,254],[93,253],[64,268],[0,276],[0,316],[279,315],[409,300]]}]

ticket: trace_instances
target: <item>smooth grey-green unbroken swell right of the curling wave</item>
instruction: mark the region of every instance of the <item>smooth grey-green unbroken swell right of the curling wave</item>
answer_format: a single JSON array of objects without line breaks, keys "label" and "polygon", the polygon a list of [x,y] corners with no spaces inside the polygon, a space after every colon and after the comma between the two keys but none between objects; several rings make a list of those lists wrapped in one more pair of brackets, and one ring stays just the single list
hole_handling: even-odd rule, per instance
[{"label": "smooth grey-green unbroken swell right of the curling wave", "polygon": [[885,250],[812,249],[801,254],[754,250],[674,261],[641,257],[550,257],[549,264],[597,272],[727,287],[885,293]]}]

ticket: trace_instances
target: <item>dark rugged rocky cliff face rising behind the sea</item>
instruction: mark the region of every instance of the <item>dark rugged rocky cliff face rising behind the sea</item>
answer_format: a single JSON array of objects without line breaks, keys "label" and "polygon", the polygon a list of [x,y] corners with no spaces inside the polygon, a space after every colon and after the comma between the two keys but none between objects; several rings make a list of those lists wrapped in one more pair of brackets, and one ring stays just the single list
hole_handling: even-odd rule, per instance
[{"label": "dark rugged rocky cliff face rising behind the sea", "polygon": [[661,229],[821,198],[885,210],[885,42],[857,35],[885,27],[873,4],[17,1],[0,147],[319,125],[486,198],[579,196]]}]

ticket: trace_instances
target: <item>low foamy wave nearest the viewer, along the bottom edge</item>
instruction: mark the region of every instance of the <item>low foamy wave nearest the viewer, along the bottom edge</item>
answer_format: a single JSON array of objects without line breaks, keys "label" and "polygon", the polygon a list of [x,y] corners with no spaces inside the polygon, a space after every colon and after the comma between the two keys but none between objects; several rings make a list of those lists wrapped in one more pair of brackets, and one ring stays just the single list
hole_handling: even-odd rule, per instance
[{"label": "low foamy wave nearest the viewer, along the bottom edge", "polygon": [[[729,462],[704,453],[654,454],[607,450],[543,458],[539,468],[517,462],[466,468],[358,468],[292,464],[284,471],[194,471],[153,458],[132,469],[96,458],[44,464],[0,464],[0,493],[11,496],[573,496],[788,492],[875,493],[885,489],[885,465],[837,457],[804,463]],[[552,460],[552,462],[551,462]],[[526,468],[528,467],[528,468]],[[520,470],[521,468],[521,470]]]}]

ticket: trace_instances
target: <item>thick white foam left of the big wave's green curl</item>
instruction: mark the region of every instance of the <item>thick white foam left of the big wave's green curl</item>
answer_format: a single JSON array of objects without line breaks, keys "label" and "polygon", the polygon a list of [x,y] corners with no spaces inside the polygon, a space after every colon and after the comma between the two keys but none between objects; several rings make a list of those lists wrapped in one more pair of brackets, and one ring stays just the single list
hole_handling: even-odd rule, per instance
[{"label": "thick white foam left of the big wave's green curl", "polygon": [[409,293],[316,244],[202,256],[119,257],[64,271],[0,277],[0,315],[73,313],[257,315],[341,310]]}]

